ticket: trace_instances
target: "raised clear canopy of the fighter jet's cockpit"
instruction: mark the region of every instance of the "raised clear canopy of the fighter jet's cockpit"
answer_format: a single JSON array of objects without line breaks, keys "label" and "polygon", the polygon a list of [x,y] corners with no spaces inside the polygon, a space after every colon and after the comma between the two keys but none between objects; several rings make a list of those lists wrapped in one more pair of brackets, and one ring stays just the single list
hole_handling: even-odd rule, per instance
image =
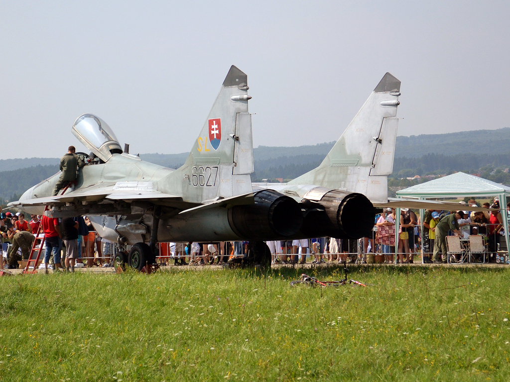
[{"label": "raised clear canopy of the fighter jet's cockpit", "polygon": [[101,161],[108,161],[113,154],[122,154],[122,148],[110,126],[93,114],[78,117],[71,131]]}]

